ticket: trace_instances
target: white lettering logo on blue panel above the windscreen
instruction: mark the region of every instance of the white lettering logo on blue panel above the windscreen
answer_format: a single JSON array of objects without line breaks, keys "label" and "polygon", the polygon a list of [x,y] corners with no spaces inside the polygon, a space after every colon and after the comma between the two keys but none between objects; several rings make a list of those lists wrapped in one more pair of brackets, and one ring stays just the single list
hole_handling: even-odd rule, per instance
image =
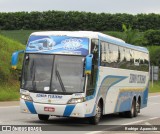
[{"label": "white lettering logo on blue panel above the windscreen", "polygon": [[63,44],[63,48],[66,50],[77,50],[82,48],[82,40],[81,39],[76,39],[76,38],[71,38],[71,39],[66,39],[61,42]]}]

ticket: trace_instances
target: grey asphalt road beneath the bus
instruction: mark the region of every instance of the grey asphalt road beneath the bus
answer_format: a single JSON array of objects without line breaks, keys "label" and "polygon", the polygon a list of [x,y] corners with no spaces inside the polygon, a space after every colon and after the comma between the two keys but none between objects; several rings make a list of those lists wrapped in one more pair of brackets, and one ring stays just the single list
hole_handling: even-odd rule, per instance
[{"label": "grey asphalt road beneath the bus", "polygon": [[90,125],[84,119],[54,116],[50,117],[48,121],[40,121],[37,115],[20,113],[19,106],[1,104],[0,125],[49,125],[52,129],[59,130],[52,131],[52,133],[65,134],[75,133],[75,131],[77,131],[76,134],[107,133],[104,131],[106,128],[112,130],[116,127],[112,125],[160,125],[160,95],[149,96],[148,106],[141,109],[141,113],[136,118],[124,118],[116,114],[106,115],[103,116],[98,126]]}]

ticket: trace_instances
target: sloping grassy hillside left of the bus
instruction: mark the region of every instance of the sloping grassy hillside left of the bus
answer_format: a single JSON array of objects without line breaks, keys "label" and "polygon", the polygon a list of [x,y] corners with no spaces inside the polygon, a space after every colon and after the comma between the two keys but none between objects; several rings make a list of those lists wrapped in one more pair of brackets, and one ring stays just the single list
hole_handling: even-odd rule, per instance
[{"label": "sloping grassy hillside left of the bus", "polygon": [[24,48],[21,43],[0,35],[0,101],[17,98],[19,82],[17,71],[11,70],[11,55],[14,51]]}]

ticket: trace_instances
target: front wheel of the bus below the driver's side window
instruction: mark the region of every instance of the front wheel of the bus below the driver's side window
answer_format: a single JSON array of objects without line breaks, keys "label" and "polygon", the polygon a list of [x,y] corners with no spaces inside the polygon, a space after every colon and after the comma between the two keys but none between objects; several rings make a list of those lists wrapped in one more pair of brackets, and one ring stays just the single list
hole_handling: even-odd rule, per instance
[{"label": "front wheel of the bus below the driver's side window", "polygon": [[96,115],[89,118],[89,122],[93,125],[96,125],[99,123],[100,119],[102,117],[102,105],[101,103],[98,103],[96,106]]}]

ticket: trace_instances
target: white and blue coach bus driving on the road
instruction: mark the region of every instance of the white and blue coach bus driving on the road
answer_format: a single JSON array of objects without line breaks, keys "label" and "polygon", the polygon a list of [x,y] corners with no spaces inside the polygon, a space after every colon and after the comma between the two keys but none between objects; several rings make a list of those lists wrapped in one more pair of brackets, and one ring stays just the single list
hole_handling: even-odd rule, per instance
[{"label": "white and blue coach bus driving on the road", "polygon": [[[52,49],[31,47],[43,39]],[[13,69],[20,53],[20,109],[40,120],[75,117],[98,124],[105,114],[132,118],[147,106],[150,63],[144,47],[100,32],[45,31],[32,33],[26,49],[12,54]]]}]

